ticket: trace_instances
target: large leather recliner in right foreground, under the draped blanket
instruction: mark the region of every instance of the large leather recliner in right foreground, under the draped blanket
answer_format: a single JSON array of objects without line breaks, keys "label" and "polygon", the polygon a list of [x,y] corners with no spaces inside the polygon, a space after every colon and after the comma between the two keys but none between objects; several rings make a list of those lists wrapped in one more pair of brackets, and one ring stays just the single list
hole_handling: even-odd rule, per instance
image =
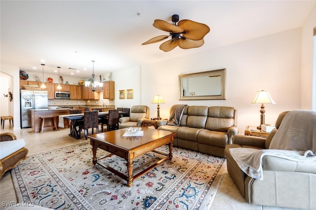
[{"label": "large leather recliner in right foreground, under the draped blanket", "polygon": [[[316,161],[297,162],[280,157],[263,157],[263,180],[246,175],[232,157],[230,148],[269,149],[288,111],[279,114],[276,128],[267,139],[237,135],[225,148],[227,170],[249,204],[295,209],[316,209]],[[315,126],[315,125],[311,125]]]}]

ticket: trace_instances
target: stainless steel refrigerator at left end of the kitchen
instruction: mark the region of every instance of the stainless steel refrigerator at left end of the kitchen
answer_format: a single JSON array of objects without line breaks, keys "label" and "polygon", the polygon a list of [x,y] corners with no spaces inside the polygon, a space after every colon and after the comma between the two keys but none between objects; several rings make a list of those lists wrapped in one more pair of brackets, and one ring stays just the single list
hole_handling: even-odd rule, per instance
[{"label": "stainless steel refrigerator at left end of the kitchen", "polygon": [[47,91],[20,90],[21,128],[32,127],[31,109],[48,108]]}]

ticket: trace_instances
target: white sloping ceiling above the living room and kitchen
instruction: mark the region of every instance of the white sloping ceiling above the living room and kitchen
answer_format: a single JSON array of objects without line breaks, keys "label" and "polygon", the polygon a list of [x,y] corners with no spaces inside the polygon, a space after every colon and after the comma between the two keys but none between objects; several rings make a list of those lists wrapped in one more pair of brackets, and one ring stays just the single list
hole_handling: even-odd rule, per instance
[{"label": "white sloping ceiling above the living room and kitchen", "polygon": [[[316,0],[1,0],[1,60],[41,73],[44,59],[45,73],[53,74],[60,66],[63,76],[75,72],[74,77],[88,78],[91,60],[100,75],[301,27],[315,4]],[[141,45],[168,35],[152,24],[155,19],[171,23],[173,14],[210,27],[203,46],[163,52],[163,41]]]}]

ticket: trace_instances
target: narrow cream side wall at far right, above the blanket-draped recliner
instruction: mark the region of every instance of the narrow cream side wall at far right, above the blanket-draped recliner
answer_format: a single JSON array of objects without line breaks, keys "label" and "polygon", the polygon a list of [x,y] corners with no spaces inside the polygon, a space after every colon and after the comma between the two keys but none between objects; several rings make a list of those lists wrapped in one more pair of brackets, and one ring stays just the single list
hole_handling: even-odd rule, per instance
[{"label": "narrow cream side wall at far right, above the blanket-draped recliner", "polygon": [[[313,29],[316,27],[316,6],[302,27],[302,57],[301,57],[301,108],[316,110],[316,67],[313,73]],[[314,45],[314,53],[316,53]],[[314,81],[313,81],[314,78]],[[313,84],[314,82],[314,84]],[[313,88],[314,86],[314,88]],[[314,93],[312,90],[314,89]],[[312,98],[314,96],[314,98]]]}]

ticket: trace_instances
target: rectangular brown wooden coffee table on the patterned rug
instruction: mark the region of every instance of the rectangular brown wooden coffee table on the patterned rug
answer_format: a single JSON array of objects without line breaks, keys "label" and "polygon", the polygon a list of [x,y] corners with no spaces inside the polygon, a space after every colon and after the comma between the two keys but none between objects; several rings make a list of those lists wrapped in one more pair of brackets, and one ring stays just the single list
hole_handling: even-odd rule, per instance
[{"label": "rectangular brown wooden coffee table on the patterned rug", "polygon": [[[131,187],[133,185],[134,179],[145,174],[166,159],[171,160],[173,137],[176,135],[176,133],[150,128],[142,128],[142,130],[144,131],[144,136],[142,137],[122,137],[126,129],[119,129],[88,136],[92,145],[93,165],[99,164],[100,166],[106,168],[110,172],[126,180],[127,186]],[[155,150],[165,144],[169,145],[169,154]],[[117,155],[121,158],[124,158],[127,161],[127,176],[111,168],[110,166],[103,164],[99,161],[100,159],[97,160],[97,148],[111,153],[106,157]],[[156,161],[152,166],[145,169],[144,171],[133,175],[133,160],[150,151],[162,154],[165,157]]]}]

